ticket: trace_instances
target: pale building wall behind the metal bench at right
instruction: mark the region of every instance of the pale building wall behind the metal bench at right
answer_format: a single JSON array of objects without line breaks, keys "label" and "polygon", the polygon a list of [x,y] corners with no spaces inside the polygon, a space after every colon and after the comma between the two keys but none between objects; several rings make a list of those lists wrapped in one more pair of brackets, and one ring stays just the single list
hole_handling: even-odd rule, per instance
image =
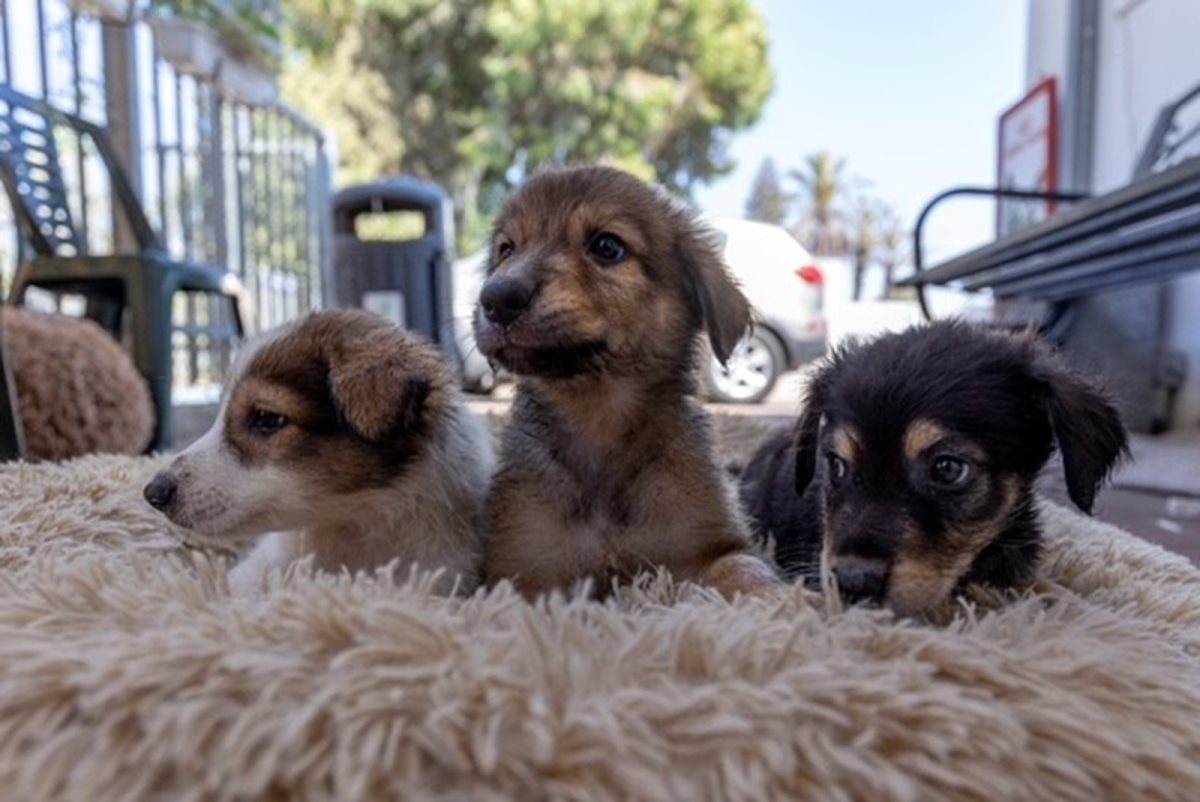
[{"label": "pale building wall behind the metal bench at right", "polygon": [[[1026,80],[1066,82],[1070,0],[1030,0]],[[1200,2],[1099,0],[1092,190],[1127,184],[1158,110],[1200,84]],[[1070,91],[1063,86],[1064,92]],[[1069,143],[1063,143],[1069,148]],[[1066,163],[1066,160],[1061,160]],[[1200,267],[1200,265],[1198,265]],[[1200,273],[1165,293],[1169,347],[1188,359],[1174,427],[1200,425]]]}]

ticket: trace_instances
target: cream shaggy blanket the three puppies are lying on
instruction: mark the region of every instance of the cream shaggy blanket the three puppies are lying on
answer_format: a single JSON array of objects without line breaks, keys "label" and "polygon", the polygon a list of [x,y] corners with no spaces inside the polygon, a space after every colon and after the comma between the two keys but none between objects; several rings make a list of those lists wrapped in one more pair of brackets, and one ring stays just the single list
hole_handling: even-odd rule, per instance
[{"label": "cream shaggy blanket the three puppies are lying on", "polygon": [[1045,592],[944,626],[662,576],[246,602],[155,465],[0,468],[0,798],[1200,798],[1200,571],[1056,507]]}]

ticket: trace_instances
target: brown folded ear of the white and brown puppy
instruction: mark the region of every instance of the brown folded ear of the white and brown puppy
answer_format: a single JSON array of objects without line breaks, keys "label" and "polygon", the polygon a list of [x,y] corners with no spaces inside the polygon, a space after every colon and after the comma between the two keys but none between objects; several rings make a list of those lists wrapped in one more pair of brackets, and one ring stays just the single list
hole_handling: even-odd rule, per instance
[{"label": "brown folded ear of the white and brown puppy", "polygon": [[382,333],[368,335],[330,359],[329,388],[346,425],[378,442],[415,425],[433,379],[406,354],[406,342]]}]

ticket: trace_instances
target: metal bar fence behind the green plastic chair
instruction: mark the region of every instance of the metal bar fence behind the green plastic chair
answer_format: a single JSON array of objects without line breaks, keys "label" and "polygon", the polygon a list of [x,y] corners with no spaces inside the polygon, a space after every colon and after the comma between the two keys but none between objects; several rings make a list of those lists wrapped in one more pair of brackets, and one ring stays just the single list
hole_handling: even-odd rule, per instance
[{"label": "metal bar fence behind the green plastic chair", "polygon": [[[106,76],[106,66],[114,47],[126,48],[126,74],[136,78],[128,108],[137,109],[128,139],[136,163],[126,168],[160,239],[178,258],[236,275],[250,297],[252,330],[319,306],[330,240],[322,131],[281,102],[247,102],[168,64],[142,18],[150,4],[130,1],[124,19],[101,20],[88,10],[114,4],[0,0],[0,83],[113,128],[120,77]],[[277,22],[277,2],[260,5]],[[65,178],[82,237],[96,252],[119,247],[96,154],[85,138],[59,146],[71,155]],[[19,251],[12,213],[0,203],[0,289]],[[176,300],[176,387],[221,379],[227,354],[204,333],[216,316],[208,306]]]}]

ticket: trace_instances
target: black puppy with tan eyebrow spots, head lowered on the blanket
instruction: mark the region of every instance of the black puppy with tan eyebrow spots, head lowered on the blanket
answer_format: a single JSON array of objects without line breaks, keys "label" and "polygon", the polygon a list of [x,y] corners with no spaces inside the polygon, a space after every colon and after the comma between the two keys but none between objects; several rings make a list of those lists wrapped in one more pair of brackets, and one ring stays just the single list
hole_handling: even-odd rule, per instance
[{"label": "black puppy with tan eyebrow spots, head lowered on the blanket", "polygon": [[971,582],[1033,579],[1033,485],[1056,443],[1090,513],[1128,454],[1109,400],[1032,335],[934,323],[835,352],[742,499],[790,579],[920,615]]}]

